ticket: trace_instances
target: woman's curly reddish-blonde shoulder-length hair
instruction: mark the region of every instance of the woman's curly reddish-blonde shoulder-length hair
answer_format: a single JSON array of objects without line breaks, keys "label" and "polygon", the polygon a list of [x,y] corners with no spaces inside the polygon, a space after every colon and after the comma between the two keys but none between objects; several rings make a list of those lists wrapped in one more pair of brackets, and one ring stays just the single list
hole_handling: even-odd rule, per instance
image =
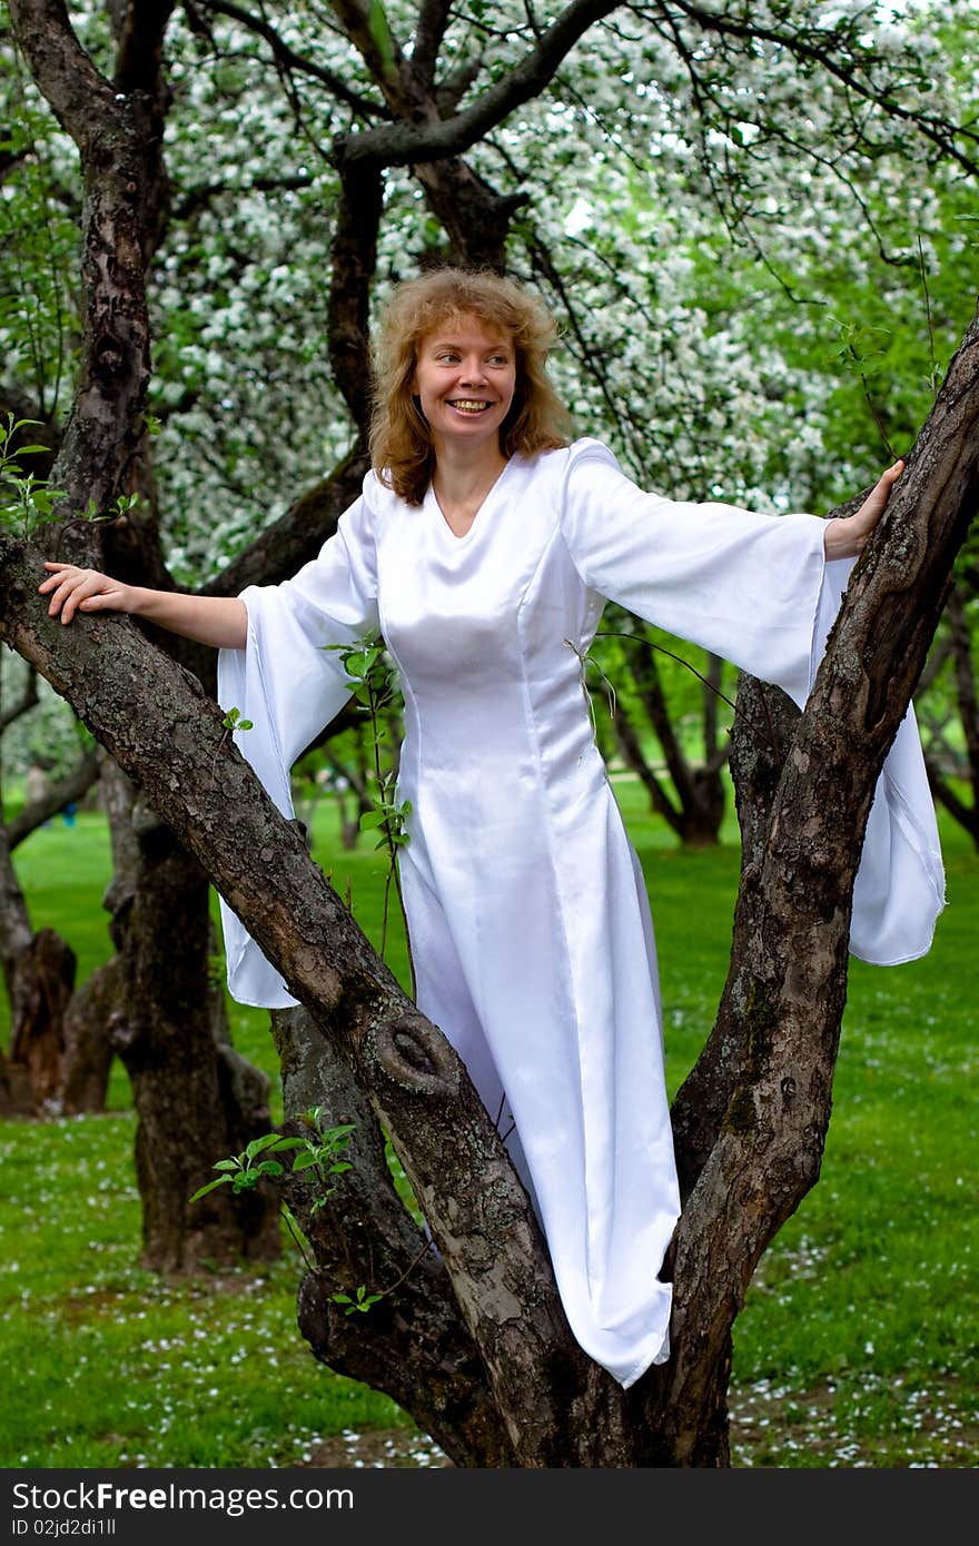
[{"label": "woman's curly reddish-blonde shoulder-length hair", "polygon": [[517,390],[500,427],[503,455],[534,456],[568,445],[563,431],[571,416],[546,369],[557,325],[544,303],[483,269],[435,269],[404,280],[384,309],[374,345],[370,451],[377,478],[407,504],[422,502],[435,473],[428,422],[411,396],[418,348],[441,323],[459,317],[478,317],[513,342]]}]

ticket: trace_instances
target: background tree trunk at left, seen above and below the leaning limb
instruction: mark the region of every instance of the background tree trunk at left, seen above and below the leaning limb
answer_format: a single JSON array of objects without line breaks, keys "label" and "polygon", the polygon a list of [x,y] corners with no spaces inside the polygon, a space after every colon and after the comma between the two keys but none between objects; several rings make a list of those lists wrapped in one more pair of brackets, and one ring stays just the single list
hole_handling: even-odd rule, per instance
[{"label": "background tree trunk at left, seen above and below the leaning limb", "polygon": [[[108,82],[79,48],[57,0],[14,0],[11,8],[36,79],[76,141],[87,187],[80,380],[53,470],[53,481],[67,490],[63,513],[70,518],[56,555],[77,563],[99,561],[97,532],[79,519],[80,512],[91,507],[105,515],[119,495],[152,493],[145,269],[167,207],[162,131],[169,93],[161,57],[172,9],[170,0],[139,12],[131,5],[118,9],[116,76]],[[135,584],[170,584],[152,498],[148,502],[148,518],[108,527],[118,572]],[[192,652],[182,656],[187,665],[196,663]],[[210,656],[207,668],[213,668]],[[118,824],[114,835],[121,872],[108,906],[121,959],[77,1005],[71,1098],[76,1088],[79,1099],[97,1095],[105,1050],[94,1045],[91,1011],[107,1013],[111,1045],[130,1074],[139,1116],[144,1265],[186,1272],[203,1258],[266,1260],[278,1251],[277,1203],[268,1194],[252,1194],[238,1206],[221,1189],[193,1209],[187,1204],[210,1180],[215,1160],[238,1152],[269,1125],[268,1081],[246,1071],[230,1050],[215,989],[209,988],[207,878],[152,813],[136,849],[121,844]],[[113,991],[121,997],[110,1008]],[[31,1002],[49,999],[34,993]],[[32,1031],[32,1040],[42,1045],[40,1030]]]}]

